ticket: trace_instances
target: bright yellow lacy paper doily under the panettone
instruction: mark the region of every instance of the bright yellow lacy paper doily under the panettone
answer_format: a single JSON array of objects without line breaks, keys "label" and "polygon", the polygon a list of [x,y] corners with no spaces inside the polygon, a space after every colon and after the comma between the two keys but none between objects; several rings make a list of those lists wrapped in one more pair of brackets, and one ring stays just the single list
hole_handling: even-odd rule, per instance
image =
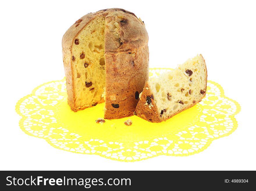
[{"label": "bright yellow lacy paper doily under the panettone", "polygon": [[[156,76],[171,69],[150,69]],[[74,113],[67,104],[65,78],[35,88],[20,99],[16,112],[26,134],[45,139],[51,146],[82,154],[95,154],[125,162],[159,155],[188,156],[206,149],[213,140],[237,128],[239,104],[224,96],[218,83],[207,82],[205,98],[194,107],[161,123],[137,116],[105,120],[104,103]],[[127,119],[133,121],[126,126]]]}]

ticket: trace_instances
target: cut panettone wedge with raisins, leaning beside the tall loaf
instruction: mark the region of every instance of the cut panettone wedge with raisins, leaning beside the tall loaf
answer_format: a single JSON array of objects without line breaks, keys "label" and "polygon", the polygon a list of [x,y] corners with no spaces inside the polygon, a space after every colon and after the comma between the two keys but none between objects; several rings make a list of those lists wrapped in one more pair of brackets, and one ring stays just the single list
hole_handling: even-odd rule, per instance
[{"label": "cut panettone wedge with raisins, leaning beside the tall loaf", "polygon": [[165,121],[200,102],[206,87],[207,69],[200,54],[159,78],[150,78],[134,113],[150,122]]}]

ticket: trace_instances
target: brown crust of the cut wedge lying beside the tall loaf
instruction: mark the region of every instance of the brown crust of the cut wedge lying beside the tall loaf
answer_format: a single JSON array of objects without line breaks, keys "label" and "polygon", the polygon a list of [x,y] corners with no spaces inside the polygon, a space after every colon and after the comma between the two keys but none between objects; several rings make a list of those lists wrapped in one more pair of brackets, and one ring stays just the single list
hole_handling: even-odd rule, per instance
[{"label": "brown crust of the cut wedge lying beside the tall loaf", "polygon": [[[200,54],[200,56],[202,56],[202,55]],[[203,56],[202,56],[202,58],[203,58]],[[204,59],[204,65],[205,65],[205,68],[206,68],[205,59]],[[205,77],[206,83],[205,83],[205,90],[204,90],[205,92],[204,92],[204,94],[202,94],[200,101],[202,101],[202,99],[205,97],[205,94],[206,94],[207,68],[206,68],[205,76],[206,76]],[[136,107],[136,110],[135,110],[134,114],[137,115],[138,117],[141,117],[142,119],[145,119],[145,120],[149,121],[149,122],[155,122],[155,123],[166,121],[167,119],[170,119],[174,115],[177,115],[178,113],[180,113],[180,112],[182,112],[186,109],[189,109],[189,108],[195,106],[197,103],[200,102],[200,101],[195,101],[195,103],[192,103],[191,105],[188,105],[187,107],[183,108],[182,110],[177,110],[177,112],[173,113],[173,115],[170,115],[170,116],[163,115],[162,116],[162,115],[160,115],[160,113],[157,110],[156,103],[155,103],[154,99],[151,99],[151,102],[152,102],[151,107],[149,107],[149,105],[146,104],[147,97],[151,96],[151,95],[153,95],[152,91],[150,90],[150,86],[148,85],[148,82],[146,82],[146,85],[143,88],[143,92],[141,94],[140,101],[137,104],[137,107]],[[154,95],[152,97],[154,97]]]}]

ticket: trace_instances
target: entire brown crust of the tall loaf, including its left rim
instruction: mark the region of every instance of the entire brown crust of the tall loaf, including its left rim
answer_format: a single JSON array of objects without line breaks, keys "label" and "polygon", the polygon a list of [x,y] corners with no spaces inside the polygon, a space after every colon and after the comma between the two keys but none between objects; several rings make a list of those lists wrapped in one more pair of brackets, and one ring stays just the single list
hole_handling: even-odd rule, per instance
[{"label": "entire brown crust of the tall loaf, including its left rim", "polygon": [[[132,94],[134,95],[134,90],[142,91],[145,81],[148,78],[148,35],[145,29],[144,23],[141,23],[134,13],[126,11],[120,8],[112,8],[112,9],[104,9],[99,10],[96,13],[88,13],[84,15],[80,19],[78,19],[64,34],[62,39],[62,51],[63,51],[63,63],[65,69],[65,76],[66,76],[66,83],[67,83],[67,94],[68,94],[68,104],[73,111],[83,110],[84,108],[79,108],[76,105],[75,101],[75,92],[74,92],[74,75],[73,75],[73,68],[72,68],[72,46],[73,41],[77,37],[77,35],[86,27],[93,19],[97,17],[108,17],[109,19],[113,19],[112,13],[118,13],[119,15],[124,15],[127,18],[128,23],[120,23],[120,42],[122,42],[122,46],[116,46],[116,41],[114,42],[111,38],[111,35],[105,35],[105,60],[106,60],[106,72],[109,76],[106,78],[106,84],[109,87],[106,88],[106,97],[110,94],[115,93],[121,95],[121,97],[127,97],[126,100],[122,100],[123,98],[118,98],[120,104],[122,105],[118,110],[113,108],[111,103],[108,102],[109,99],[106,101],[106,108],[107,111],[105,112],[105,117],[108,119],[113,118],[121,118],[130,116],[134,113],[136,108],[137,100],[133,99]],[[109,15],[109,16],[108,16]],[[116,15],[115,15],[116,16]],[[107,19],[107,18],[106,18]],[[126,25],[127,24],[127,25]],[[136,28],[138,28],[136,30]],[[128,52],[135,51],[136,55],[134,60],[131,60],[129,56],[131,55]],[[145,61],[146,60],[146,61]],[[133,64],[134,68],[128,69],[127,67],[129,64]],[[113,65],[114,64],[114,65]],[[113,67],[110,67],[113,65]],[[109,67],[108,67],[109,66]],[[125,75],[122,74],[125,73]],[[130,74],[128,74],[130,72]],[[118,75],[123,75],[120,79],[121,85],[119,84]],[[127,78],[130,76],[129,78]],[[131,78],[131,76],[133,78]],[[116,78],[117,77],[117,78]],[[136,81],[137,84],[132,84],[133,89],[129,90],[129,92],[122,92],[124,91],[125,81],[127,86],[131,86],[133,80]],[[116,83],[118,82],[118,83]],[[102,100],[101,102],[104,102]],[[108,108],[110,108],[108,110]],[[121,110],[122,108],[122,110]],[[113,110],[115,109],[115,110]]]}]

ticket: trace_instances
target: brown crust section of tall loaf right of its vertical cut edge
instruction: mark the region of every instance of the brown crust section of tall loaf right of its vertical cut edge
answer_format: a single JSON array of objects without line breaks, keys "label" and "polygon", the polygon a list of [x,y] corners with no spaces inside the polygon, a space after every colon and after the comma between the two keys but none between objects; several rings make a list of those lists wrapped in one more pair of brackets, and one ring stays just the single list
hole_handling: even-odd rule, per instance
[{"label": "brown crust section of tall loaf right of its vertical cut edge", "polygon": [[[119,40],[113,36],[111,23],[118,24]],[[135,92],[141,93],[148,80],[147,42],[145,25],[134,15],[116,11],[106,16],[105,119],[117,119],[134,114],[138,103]],[[111,100],[111,96],[115,96],[116,99]],[[112,104],[118,104],[119,107],[113,107]]]}]

